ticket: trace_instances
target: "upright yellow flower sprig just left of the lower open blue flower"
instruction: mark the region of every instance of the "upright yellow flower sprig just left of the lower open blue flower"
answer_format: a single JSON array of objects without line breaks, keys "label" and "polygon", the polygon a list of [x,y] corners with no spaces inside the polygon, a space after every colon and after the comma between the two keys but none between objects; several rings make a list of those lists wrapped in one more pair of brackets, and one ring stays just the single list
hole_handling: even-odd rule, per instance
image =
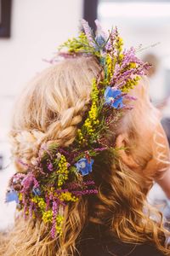
[{"label": "upright yellow flower sprig just left of the lower open blue flower", "polygon": [[68,179],[68,163],[65,159],[65,155],[61,154],[60,159],[59,159],[59,170],[57,173],[59,174],[59,179],[58,179],[58,186],[62,186],[65,183],[65,180]]}]

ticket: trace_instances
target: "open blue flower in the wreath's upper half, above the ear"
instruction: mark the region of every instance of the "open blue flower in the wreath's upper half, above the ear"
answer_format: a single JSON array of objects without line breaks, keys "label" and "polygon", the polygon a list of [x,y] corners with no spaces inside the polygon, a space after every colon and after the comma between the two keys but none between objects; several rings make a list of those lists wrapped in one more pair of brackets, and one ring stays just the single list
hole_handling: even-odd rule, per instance
[{"label": "open blue flower in the wreath's upper half, above the ear", "polygon": [[122,91],[107,86],[105,89],[105,104],[112,108],[123,108]]}]

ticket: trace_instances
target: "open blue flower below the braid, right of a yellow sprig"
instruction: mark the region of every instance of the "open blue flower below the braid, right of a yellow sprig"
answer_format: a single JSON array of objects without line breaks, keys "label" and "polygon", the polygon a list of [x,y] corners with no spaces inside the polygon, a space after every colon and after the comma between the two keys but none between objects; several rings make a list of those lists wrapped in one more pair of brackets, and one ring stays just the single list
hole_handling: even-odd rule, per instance
[{"label": "open blue flower below the braid, right of a yellow sprig", "polygon": [[94,160],[91,159],[90,161],[87,158],[82,158],[77,161],[75,166],[77,166],[77,171],[82,172],[82,176],[88,175],[92,172],[92,166],[94,164]]}]

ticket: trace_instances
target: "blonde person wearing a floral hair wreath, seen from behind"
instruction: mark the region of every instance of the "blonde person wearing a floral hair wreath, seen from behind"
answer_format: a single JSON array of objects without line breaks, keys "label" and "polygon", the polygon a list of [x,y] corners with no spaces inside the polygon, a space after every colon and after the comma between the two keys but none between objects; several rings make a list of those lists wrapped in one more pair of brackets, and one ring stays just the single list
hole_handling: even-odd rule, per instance
[{"label": "blonde person wearing a floral hair wreath, seen from behind", "polygon": [[0,255],[168,255],[161,214],[150,218],[146,203],[169,164],[159,113],[139,80],[147,66],[133,49],[122,52],[116,30],[92,38],[82,24],[65,60],[38,74],[15,109],[18,173],[7,201],[21,211]]}]

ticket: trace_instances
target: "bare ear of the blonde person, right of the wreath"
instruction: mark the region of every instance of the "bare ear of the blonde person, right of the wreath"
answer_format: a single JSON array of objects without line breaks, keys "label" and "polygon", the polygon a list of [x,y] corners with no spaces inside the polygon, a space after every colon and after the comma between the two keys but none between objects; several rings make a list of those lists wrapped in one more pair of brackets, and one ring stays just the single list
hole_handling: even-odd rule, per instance
[{"label": "bare ear of the blonde person, right of the wreath", "polygon": [[135,169],[135,171],[137,171],[137,169],[139,169],[139,164],[133,159],[133,155],[126,150],[128,146],[127,143],[127,134],[122,133],[119,134],[116,137],[116,148],[122,148],[119,150],[119,156],[122,159],[122,162],[128,166],[130,169]]}]

